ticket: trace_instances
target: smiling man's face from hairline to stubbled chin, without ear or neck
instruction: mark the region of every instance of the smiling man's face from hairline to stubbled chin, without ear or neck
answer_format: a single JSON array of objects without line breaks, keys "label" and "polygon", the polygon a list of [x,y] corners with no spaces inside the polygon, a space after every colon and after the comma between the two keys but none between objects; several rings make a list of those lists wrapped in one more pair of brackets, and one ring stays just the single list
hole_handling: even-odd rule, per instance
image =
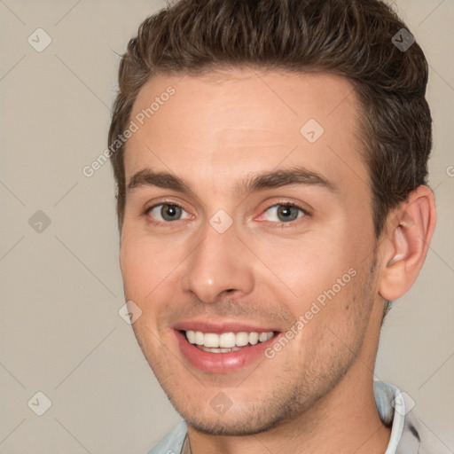
[{"label": "smiling man's face from hairline to stubbled chin, without ear or neck", "polygon": [[326,74],[140,90],[121,270],[140,347],[193,427],[260,432],[372,379],[383,306],[356,115],[351,85]]}]

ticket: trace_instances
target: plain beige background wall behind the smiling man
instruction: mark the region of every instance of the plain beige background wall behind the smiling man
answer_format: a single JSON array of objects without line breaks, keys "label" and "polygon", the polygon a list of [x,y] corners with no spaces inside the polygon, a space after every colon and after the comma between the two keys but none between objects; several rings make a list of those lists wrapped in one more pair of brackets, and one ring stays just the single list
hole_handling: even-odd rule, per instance
[{"label": "plain beige background wall behind the smiling man", "polygon": [[[82,174],[106,149],[117,54],[162,5],[0,0],[0,454],[145,453],[180,420],[118,314],[110,164]],[[454,2],[395,8],[430,63],[439,221],[418,283],[387,317],[376,375],[454,452]],[[27,38],[43,45],[40,27],[51,44],[38,52]]]}]

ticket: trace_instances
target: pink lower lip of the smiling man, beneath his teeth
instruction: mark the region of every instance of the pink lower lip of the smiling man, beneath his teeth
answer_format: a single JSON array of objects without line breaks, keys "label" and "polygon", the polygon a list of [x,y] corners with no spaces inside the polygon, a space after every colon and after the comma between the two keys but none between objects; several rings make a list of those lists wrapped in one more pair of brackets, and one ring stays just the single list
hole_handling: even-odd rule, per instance
[{"label": "pink lower lip of the smiling man, beneath his teeth", "polygon": [[250,347],[241,348],[228,353],[212,353],[194,347],[186,340],[184,333],[174,330],[176,340],[183,356],[195,367],[205,372],[230,373],[237,372],[258,359],[266,359],[264,352],[266,348],[278,340],[278,335],[269,340],[260,342]]}]

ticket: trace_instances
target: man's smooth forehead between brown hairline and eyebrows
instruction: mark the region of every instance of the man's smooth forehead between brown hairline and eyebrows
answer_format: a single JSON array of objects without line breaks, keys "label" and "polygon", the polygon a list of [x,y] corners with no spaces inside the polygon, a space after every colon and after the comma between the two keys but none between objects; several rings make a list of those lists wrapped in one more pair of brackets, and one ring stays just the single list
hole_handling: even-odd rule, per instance
[{"label": "man's smooth forehead between brown hairline and eyebrows", "polygon": [[151,168],[223,192],[237,176],[304,166],[364,191],[357,116],[352,85],[330,74],[157,75],[130,116],[137,131],[126,145],[126,181]]}]

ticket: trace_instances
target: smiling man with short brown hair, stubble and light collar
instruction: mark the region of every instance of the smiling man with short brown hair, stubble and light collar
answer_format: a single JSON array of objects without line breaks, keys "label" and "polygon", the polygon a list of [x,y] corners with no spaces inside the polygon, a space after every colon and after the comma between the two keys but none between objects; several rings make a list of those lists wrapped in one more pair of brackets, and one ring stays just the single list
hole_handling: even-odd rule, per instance
[{"label": "smiling man with short brown hair, stubble and light collar", "polygon": [[109,133],[134,332],[184,418],[152,453],[422,453],[375,381],[425,260],[427,61],[379,0],[181,0]]}]

